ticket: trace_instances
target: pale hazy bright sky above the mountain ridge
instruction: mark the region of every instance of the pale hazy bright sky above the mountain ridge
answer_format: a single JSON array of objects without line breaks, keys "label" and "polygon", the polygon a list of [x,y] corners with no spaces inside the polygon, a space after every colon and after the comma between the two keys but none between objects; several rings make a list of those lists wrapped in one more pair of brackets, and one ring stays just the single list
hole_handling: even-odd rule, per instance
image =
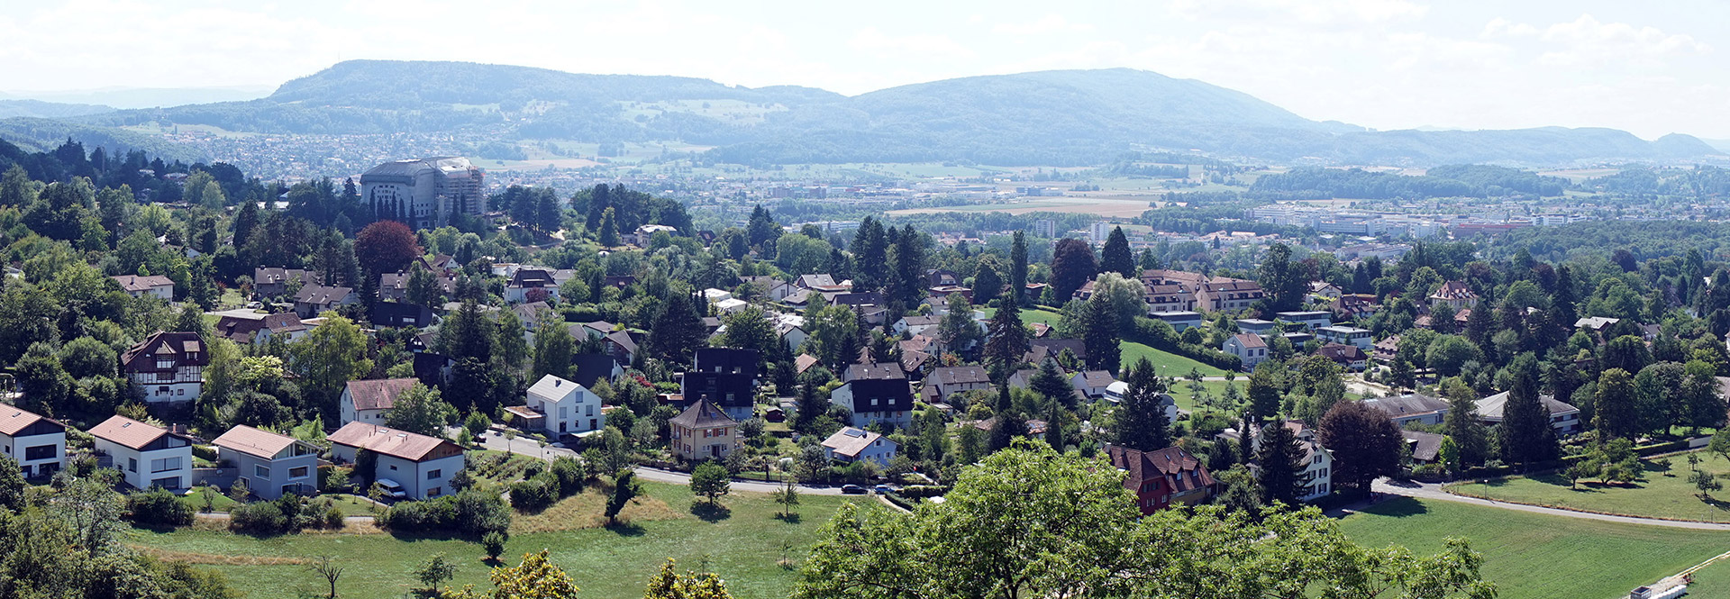
[{"label": "pale hazy bright sky above the mountain ridge", "polygon": [[346,59],[841,93],[1135,68],[1372,128],[1730,138],[1730,2],[0,0],[0,90],[279,85]]}]

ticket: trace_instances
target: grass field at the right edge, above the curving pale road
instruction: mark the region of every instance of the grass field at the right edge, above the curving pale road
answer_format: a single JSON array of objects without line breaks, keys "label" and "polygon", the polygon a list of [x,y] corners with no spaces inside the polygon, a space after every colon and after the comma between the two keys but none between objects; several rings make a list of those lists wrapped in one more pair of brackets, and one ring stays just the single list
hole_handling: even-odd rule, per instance
[{"label": "grass field at the right edge, above the curving pale road", "polygon": [[[1730,462],[1725,462],[1721,455],[1709,452],[1695,452],[1695,455],[1701,455],[1701,469],[1720,478],[1730,476]],[[1496,500],[1593,512],[1730,523],[1730,502],[1725,500],[1730,499],[1730,493],[1702,500],[1694,485],[1688,483],[1688,459],[1673,455],[1669,462],[1669,476],[1664,476],[1663,467],[1645,462],[1645,478],[1626,486],[1581,481],[1578,488],[1571,488],[1566,476],[1552,473],[1490,481],[1488,495]],[[1476,483],[1455,485],[1448,490],[1474,497],[1486,493],[1484,485]]]}]

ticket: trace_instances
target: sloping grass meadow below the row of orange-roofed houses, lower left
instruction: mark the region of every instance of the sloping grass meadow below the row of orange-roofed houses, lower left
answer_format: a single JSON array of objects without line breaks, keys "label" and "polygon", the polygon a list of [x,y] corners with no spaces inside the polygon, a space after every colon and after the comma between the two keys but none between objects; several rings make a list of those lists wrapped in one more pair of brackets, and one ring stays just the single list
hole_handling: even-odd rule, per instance
[{"label": "sloping grass meadow below the row of orange-roofed houses, lower left", "polygon": [[[796,509],[803,518],[782,521],[775,518],[780,506],[761,493],[723,497],[727,511],[713,514],[694,511],[685,486],[644,483],[644,488],[647,497],[642,504],[625,511],[631,518],[630,526],[599,526],[602,502],[593,492],[538,516],[519,514],[505,556],[519,559],[524,552],[547,549],[592,599],[640,597],[644,583],[668,557],[678,559],[680,570],[708,563],[727,580],[734,597],[785,597],[796,571],[777,564],[784,544],[787,557],[803,559],[829,516],[843,502],[860,500],[803,495]],[[863,502],[875,506],[868,499]],[[304,570],[304,559],[311,556],[336,556],[346,564],[337,587],[344,599],[403,597],[419,585],[410,570],[436,552],[460,564],[453,580],[458,587],[474,583],[476,589],[491,589],[481,545],[460,538],[381,531],[253,538],[208,525],[168,533],[135,530],[130,535],[131,544],[152,554],[225,573],[230,585],[253,599],[313,592],[313,576]]]}]

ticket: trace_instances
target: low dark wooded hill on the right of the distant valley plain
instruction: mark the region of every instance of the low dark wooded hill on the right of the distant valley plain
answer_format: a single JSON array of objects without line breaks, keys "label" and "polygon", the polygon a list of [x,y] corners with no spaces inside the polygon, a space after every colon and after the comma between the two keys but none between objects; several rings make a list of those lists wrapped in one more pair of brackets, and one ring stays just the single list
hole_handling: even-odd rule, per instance
[{"label": "low dark wooded hill on the right of the distant valley plain", "polygon": [[1246,196],[1258,199],[1429,199],[1560,196],[1566,182],[1503,166],[1450,164],[1406,177],[1362,168],[1294,168],[1263,175]]}]

